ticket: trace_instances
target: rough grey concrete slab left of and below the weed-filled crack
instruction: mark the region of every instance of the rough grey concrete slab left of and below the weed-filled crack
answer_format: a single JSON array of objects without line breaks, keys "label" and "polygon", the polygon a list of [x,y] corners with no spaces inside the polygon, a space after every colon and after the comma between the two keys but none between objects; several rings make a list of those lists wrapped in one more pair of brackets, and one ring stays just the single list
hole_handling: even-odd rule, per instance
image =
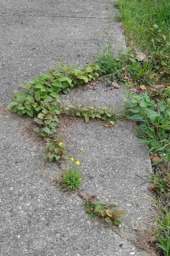
[{"label": "rough grey concrete slab left of and below the weed-filled crack", "polygon": [[86,218],[79,197],[49,185],[61,171],[57,164],[43,160],[43,142],[28,142],[18,122],[18,117],[0,116],[0,255],[123,256],[125,251],[135,252],[112,229]]}]

